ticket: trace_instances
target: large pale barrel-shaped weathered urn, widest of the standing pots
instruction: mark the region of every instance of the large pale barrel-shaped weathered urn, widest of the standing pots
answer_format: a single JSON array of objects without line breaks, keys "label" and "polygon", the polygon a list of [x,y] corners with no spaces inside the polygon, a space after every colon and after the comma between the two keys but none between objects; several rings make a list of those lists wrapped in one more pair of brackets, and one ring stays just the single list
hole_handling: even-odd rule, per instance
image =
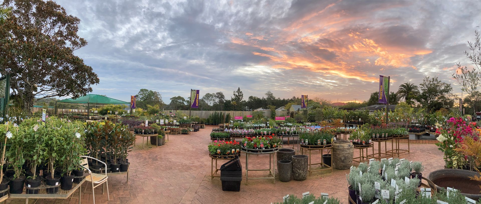
[{"label": "large pale barrel-shaped weathered urn, widest of the standing pots", "polygon": [[352,166],[354,145],[348,140],[334,141],[332,145],[332,163],[338,170],[347,170]]}]

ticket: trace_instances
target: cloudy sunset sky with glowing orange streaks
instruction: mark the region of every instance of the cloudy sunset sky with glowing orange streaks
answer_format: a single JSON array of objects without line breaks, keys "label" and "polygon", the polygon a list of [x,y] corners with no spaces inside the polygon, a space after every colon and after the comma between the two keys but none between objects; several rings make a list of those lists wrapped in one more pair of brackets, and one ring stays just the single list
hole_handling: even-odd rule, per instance
[{"label": "cloudy sunset sky with glowing orange streaks", "polygon": [[75,54],[99,75],[93,94],[129,101],[238,87],[248,96],[368,100],[425,76],[452,83],[481,26],[481,1],[55,0],[81,22]]}]

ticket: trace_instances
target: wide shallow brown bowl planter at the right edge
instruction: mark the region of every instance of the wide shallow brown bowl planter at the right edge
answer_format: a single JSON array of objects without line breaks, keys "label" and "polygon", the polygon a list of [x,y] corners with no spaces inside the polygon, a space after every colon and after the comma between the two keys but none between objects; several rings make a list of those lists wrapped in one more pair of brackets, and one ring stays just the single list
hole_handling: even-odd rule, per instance
[{"label": "wide shallow brown bowl planter at the right edge", "polygon": [[438,191],[446,191],[444,188],[457,189],[464,196],[478,200],[481,198],[479,181],[471,180],[469,177],[481,176],[476,171],[443,169],[431,172],[428,179],[436,185]]}]

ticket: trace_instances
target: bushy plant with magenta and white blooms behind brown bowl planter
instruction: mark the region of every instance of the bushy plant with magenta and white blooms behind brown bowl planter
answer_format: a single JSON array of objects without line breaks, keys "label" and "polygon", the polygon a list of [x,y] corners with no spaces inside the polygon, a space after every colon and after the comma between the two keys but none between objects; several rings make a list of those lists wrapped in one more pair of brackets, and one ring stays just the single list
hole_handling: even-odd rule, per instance
[{"label": "bushy plant with magenta and white blooms behind brown bowl planter", "polygon": [[446,120],[446,126],[440,127],[436,124],[436,133],[440,134],[437,138],[438,149],[444,153],[446,168],[461,169],[467,164],[467,156],[455,151],[460,147],[466,136],[472,137],[475,141],[479,139],[480,129],[474,122],[467,122],[463,118],[450,118]]}]

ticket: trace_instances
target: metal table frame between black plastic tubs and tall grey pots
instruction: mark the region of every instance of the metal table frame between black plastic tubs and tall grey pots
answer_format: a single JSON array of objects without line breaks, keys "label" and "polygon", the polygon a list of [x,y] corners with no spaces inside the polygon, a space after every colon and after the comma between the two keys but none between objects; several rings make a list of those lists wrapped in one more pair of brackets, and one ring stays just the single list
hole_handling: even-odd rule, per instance
[{"label": "metal table frame between black plastic tubs and tall grey pots", "polygon": [[[276,156],[274,155],[279,150],[279,147],[270,149],[249,149],[241,146],[241,151],[245,152],[245,184],[249,184],[249,179],[272,179],[276,183]],[[269,155],[269,169],[251,169],[251,171],[269,171],[267,177],[251,177],[249,178],[249,155]],[[272,176],[270,176],[272,175]]]}]

